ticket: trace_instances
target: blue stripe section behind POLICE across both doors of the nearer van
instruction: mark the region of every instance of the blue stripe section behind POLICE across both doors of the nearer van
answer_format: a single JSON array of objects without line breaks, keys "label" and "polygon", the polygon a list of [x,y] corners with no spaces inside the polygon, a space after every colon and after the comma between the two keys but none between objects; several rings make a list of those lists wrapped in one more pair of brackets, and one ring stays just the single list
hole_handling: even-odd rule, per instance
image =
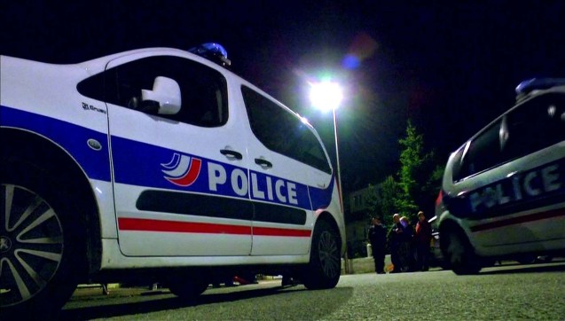
[{"label": "blue stripe section behind POLICE across both doors of the nearer van", "polygon": [[[227,196],[244,200],[261,200],[268,203],[299,207],[303,209],[325,208],[330,204],[334,184],[326,189],[318,189],[305,184],[289,181],[278,176],[270,176],[247,168],[210,160],[200,155],[176,155],[177,151],[133,141],[123,137],[112,137],[114,179],[116,183],[147,186],[182,192],[196,192]],[[120,151],[119,153],[115,151]],[[168,174],[175,168],[184,172],[192,171],[192,162],[198,161],[199,171],[193,171],[188,184],[175,184]],[[196,162],[195,162],[196,163]],[[224,170],[223,183],[210,184],[210,172]],[[249,179],[249,175],[251,178]],[[170,178],[170,177],[169,177]],[[243,182],[243,179],[246,182]],[[235,185],[234,185],[235,184]],[[311,202],[309,198],[309,191]]]}]

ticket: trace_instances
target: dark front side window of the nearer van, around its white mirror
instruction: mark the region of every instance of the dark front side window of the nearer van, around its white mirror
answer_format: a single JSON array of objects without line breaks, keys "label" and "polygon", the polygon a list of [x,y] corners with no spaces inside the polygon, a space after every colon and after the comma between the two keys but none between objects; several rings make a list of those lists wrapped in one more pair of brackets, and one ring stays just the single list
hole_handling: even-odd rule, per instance
[{"label": "dark front side window of the nearer van, around its white mirror", "polygon": [[200,127],[225,124],[228,106],[224,76],[210,67],[182,57],[137,59],[84,80],[77,89],[87,97],[137,109],[141,90],[152,90],[158,76],[175,80],[180,86],[182,99],[180,112],[159,117]]}]

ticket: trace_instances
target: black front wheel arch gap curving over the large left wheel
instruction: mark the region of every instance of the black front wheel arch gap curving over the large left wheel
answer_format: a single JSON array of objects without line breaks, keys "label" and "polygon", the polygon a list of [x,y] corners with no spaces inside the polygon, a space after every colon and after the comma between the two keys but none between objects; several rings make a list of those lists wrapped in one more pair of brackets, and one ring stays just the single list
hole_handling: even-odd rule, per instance
[{"label": "black front wheel arch gap curving over the large left wheel", "polygon": [[81,223],[78,228],[84,235],[83,277],[99,270],[102,243],[98,203],[88,177],[76,160],[48,138],[21,129],[0,128],[0,145],[1,161],[35,163],[49,173],[58,173],[57,179],[69,186],[75,202],[84,208],[78,220]]}]

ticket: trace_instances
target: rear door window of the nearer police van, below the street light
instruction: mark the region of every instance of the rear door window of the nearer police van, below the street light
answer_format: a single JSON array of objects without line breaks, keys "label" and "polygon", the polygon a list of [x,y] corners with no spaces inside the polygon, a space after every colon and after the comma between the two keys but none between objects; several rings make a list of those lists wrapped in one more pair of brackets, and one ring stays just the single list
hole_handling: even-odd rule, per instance
[{"label": "rear door window of the nearer police van, below the street light", "polygon": [[302,120],[271,99],[241,87],[251,130],[265,147],[330,174],[326,153]]}]

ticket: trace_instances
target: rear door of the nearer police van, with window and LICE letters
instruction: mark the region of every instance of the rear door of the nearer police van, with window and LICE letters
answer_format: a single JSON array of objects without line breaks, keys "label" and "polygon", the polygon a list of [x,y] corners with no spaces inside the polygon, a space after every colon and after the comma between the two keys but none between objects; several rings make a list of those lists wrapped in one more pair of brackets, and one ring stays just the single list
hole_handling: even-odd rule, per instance
[{"label": "rear door of the nearer police van, with window and LICE letters", "polygon": [[[327,187],[331,175],[322,175],[304,158],[309,150],[321,151],[319,167],[331,172],[326,155],[298,115],[258,90],[247,86],[241,90],[254,134],[248,142],[250,197],[255,206],[251,254],[308,254],[315,223],[309,189]],[[311,174],[313,170],[317,176]]]}]

